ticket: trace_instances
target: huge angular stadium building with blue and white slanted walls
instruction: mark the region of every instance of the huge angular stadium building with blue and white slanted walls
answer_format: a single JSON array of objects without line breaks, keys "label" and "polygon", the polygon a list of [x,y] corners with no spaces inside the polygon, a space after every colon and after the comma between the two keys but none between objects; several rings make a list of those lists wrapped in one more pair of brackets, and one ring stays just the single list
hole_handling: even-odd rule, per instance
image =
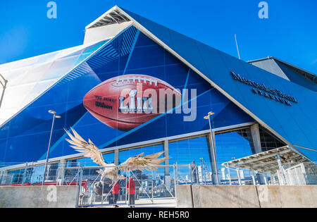
[{"label": "huge angular stadium building with blue and white slanted walls", "polygon": [[[61,118],[51,136],[51,172],[65,164],[92,166],[66,142],[64,129],[71,127],[108,163],[165,152],[166,165],[199,166],[198,176],[185,173],[184,181],[228,183],[235,168],[232,181],[247,178],[248,170],[268,183],[266,173],[281,177],[300,166],[304,183],[314,183],[308,175],[317,161],[316,75],[278,58],[245,62],[115,6],[87,25],[82,45],[3,64],[0,73],[7,80],[2,178],[30,173],[25,166],[42,171],[54,110]],[[153,94],[132,89],[137,85]],[[170,90],[170,109],[151,113],[159,104],[153,89]]]}]

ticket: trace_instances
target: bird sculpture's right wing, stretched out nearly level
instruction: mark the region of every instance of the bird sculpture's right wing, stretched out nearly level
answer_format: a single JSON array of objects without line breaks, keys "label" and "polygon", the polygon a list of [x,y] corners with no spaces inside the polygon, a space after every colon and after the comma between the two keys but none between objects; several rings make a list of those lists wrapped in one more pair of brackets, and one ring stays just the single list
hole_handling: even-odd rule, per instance
[{"label": "bird sculpture's right wing, stretched out nearly level", "polygon": [[151,171],[151,169],[157,170],[157,167],[159,166],[162,162],[170,159],[168,156],[165,156],[163,158],[159,159],[159,156],[161,156],[164,152],[159,152],[157,154],[151,154],[149,156],[144,156],[143,154],[139,154],[137,156],[130,157],[127,161],[125,161],[122,166],[122,169],[125,170],[127,166],[130,168],[130,171]]}]

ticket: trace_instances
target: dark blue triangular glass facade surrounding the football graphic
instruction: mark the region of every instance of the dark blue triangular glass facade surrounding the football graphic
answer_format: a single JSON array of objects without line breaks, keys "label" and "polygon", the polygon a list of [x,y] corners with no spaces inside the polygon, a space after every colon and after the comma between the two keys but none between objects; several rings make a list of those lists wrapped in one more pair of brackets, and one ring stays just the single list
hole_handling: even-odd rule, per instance
[{"label": "dark blue triangular glass facade surrounding the football graphic", "polygon": [[[86,51],[89,53],[84,56]],[[202,117],[211,110],[216,113],[213,128],[254,121],[209,82],[133,26],[111,40],[82,49],[70,57],[73,56],[80,56],[76,58],[81,61],[76,68],[1,127],[0,161],[45,159],[52,121],[47,112],[50,109],[62,117],[54,125],[50,158],[76,154],[65,141],[64,128],[75,128],[82,137],[90,138],[103,149],[209,130],[208,121]],[[61,65],[56,62],[56,66]],[[194,102],[197,103],[196,118],[184,121],[188,113],[161,113],[151,121],[123,132],[101,123],[85,109],[83,98],[87,92],[113,77],[135,73],[158,78],[176,89],[189,90],[189,101],[183,101],[181,107],[189,105],[190,109]],[[188,149],[189,153],[200,150],[195,146]],[[208,150],[204,149],[206,152]],[[192,159],[197,159],[199,153],[196,152]]]}]

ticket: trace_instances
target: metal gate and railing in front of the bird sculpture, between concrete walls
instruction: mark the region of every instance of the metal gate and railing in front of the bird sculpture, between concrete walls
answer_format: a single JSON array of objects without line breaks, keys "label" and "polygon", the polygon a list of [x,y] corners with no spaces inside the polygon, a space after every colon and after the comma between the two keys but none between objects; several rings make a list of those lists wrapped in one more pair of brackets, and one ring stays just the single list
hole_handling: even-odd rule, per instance
[{"label": "metal gate and railing in front of the bird sculpture, between concrete walls", "polygon": [[[100,175],[85,175],[84,171],[100,170],[104,168],[116,168],[120,167],[121,175],[125,177],[125,180],[112,181],[103,180],[101,186],[99,186],[99,192],[97,192],[97,181],[101,182]],[[148,166],[147,166],[148,167]],[[87,166],[87,167],[69,167],[68,170],[77,170],[74,178],[77,178],[78,184],[82,181],[87,182],[87,190],[82,190],[82,187],[78,187],[78,202],[80,207],[85,206],[105,206],[105,205],[130,205],[130,195],[127,189],[130,187],[130,178],[134,180],[135,183],[135,201],[144,202],[148,200],[151,204],[154,204],[154,199],[156,198],[170,198],[175,199],[175,185],[178,184],[175,176],[175,170],[179,167],[189,168],[189,165],[170,165],[170,166],[152,166],[150,171],[142,171],[143,167],[125,167],[122,166]],[[174,177],[170,177],[172,172]],[[167,175],[168,174],[168,175]],[[89,178],[89,180],[87,180]],[[129,178],[129,179],[128,179]],[[113,202],[112,188],[113,185],[120,184],[120,192],[118,194],[118,202]],[[132,197],[131,197],[132,198]]]}]

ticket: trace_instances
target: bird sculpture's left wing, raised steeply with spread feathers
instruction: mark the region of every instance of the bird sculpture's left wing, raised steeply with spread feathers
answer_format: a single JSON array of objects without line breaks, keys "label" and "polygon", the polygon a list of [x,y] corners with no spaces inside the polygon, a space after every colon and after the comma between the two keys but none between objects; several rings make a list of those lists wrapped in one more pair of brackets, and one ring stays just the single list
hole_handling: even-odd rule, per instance
[{"label": "bird sculpture's left wing, raised steeply with spread feathers", "polygon": [[73,144],[73,147],[77,152],[85,153],[85,157],[90,157],[94,163],[98,164],[99,166],[106,166],[106,162],[104,161],[104,156],[102,156],[99,148],[91,141],[88,140],[86,142],[80,135],[73,129],[72,135],[68,130],[65,130],[70,137],[71,140],[66,139],[67,142]]}]

